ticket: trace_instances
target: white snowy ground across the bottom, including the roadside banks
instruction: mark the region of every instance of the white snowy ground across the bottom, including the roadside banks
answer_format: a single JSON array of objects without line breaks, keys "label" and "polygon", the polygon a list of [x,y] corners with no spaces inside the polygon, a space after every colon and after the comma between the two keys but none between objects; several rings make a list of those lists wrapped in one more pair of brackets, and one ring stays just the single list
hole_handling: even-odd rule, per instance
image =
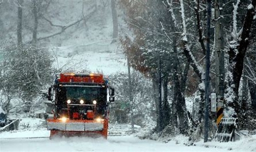
[{"label": "white snowy ground across the bottom, including the roadside banks", "polygon": [[[136,134],[126,135],[129,125],[112,125],[112,132],[124,136],[109,136],[92,139],[90,137],[59,137],[49,140],[49,131],[41,126],[42,119],[25,118],[19,130],[0,133],[0,151],[255,151],[256,136],[244,137],[240,141],[220,143],[203,140],[195,146],[186,146],[187,137],[177,136],[168,143],[141,140]],[[111,125],[110,125],[111,126]],[[41,138],[35,138],[41,137]]]}]

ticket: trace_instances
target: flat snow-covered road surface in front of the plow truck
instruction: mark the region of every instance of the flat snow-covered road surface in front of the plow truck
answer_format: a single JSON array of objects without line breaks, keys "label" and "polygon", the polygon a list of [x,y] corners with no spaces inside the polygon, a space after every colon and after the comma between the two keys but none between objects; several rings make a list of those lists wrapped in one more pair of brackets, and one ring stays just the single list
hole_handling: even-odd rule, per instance
[{"label": "flat snow-covered road surface in front of the plow truck", "polygon": [[0,139],[0,151],[226,151],[214,147],[184,146],[174,141],[163,143],[133,136],[105,139],[70,137],[49,139]]}]

